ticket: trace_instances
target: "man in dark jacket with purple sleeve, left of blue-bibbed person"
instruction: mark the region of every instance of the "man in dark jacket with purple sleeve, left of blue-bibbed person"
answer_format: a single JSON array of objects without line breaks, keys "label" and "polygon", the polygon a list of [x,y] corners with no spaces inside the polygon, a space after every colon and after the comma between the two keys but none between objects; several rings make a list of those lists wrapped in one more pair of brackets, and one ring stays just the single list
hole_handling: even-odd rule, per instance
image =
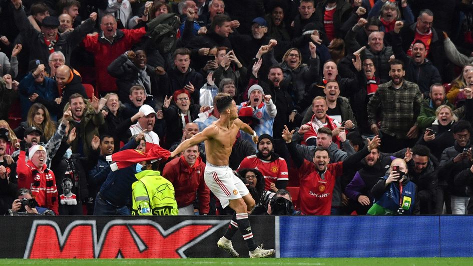
[{"label": "man in dark jacket with purple sleeve, left of blue-bibbed person", "polygon": [[[358,215],[364,215],[374,201],[371,188],[379,180],[379,176],[386,173],[392,158],[385,153],[380,153],[374,148],[366,155],[360,163],[361,169],[356,171],[353,179],[345,187],[345,195],[348,197],[347,212],[355,210]],[[358,168],[358,167],[356,167]]]}]

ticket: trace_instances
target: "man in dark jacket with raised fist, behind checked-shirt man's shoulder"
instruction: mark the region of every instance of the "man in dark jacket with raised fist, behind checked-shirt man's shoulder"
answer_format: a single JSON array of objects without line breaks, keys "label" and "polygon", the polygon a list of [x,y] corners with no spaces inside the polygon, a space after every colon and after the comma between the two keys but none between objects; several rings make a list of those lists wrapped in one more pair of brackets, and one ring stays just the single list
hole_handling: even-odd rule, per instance
[{"label": "man in dark jacket with raised fist, behind checked-shirt man's shoulder", "polygon": [[[397,59],[404,61],[406,79],[419,85],[420,92],[427,94],[428,87],[433,83],[440,83],[442,78],[432,62],[425,58],[427,56],[426,44],[417,39],[412,44],[411,56],[402,50],[402,39],[399,34],[404,26],[403,21],[396,21],[394,34],[392,34],[392,49]],[[371,33],[372,34],[372,33]]]}]

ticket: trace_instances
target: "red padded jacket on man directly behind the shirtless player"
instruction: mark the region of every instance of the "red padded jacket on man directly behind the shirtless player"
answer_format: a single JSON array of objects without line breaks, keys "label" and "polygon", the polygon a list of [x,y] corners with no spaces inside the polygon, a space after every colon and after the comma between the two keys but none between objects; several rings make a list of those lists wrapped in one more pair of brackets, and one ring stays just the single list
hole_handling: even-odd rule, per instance
[{"label": "red padded jacket on man directly behind the shirtless player", "polygon": [[197,157],[191,167],[184,155],[172,159],[164,166],[162,175],[174,185],[175,197],[178,207],[185,207],[199,195],[200,213],[209,213],[210,189],[204,181],[205,163]]}]

